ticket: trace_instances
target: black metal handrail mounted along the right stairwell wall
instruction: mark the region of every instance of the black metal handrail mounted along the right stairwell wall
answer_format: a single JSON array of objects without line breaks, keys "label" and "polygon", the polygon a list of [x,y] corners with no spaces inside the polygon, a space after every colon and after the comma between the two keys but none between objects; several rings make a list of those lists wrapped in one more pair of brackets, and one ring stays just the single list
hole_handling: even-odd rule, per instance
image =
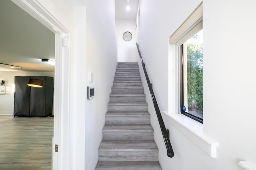
[{"label": "black metal handrail mounted along the right stairwell wall", "polygon": [[153,91],[153,86],[150,83],[150,80],[148,78],[148,73],[147,73],[147,70],[146,70],[146,67],[145,67],[145,63],[143,62],[143,59],[141,57],[141,52],[140,52],[140,49],[139,49],[139,45],[138,45],[138,43],[136,43],[136,45],[137,45],[137,49],[138,49],[138,52],[139,52],[139,55],[140,55],[140,61],[141,61],[141,64],[142,64],[142,67],[143,67],[143,70],[144,70],[144,74],[145,74],[146,80],[148,82],[148,88],[149,88],[151,98],[152,98],[153,103],[154,103],[154,107],[155,107],[155,110],[156,110],[156,115],[157,115],[157,118],[158,118],[158,122],[159,122],[159,125],[160,125],[160,128],[161,128],[161,131],[162,131],[162,135],[164,137],[164,143],[165,143],[165,146],[166,146],[166,149],[167,149],[167,156],[172,158],[174,156],[174,152],[172,150],[172,145],[171,145],[171,142],[170,142],[170,139],[169,139],[170,138],[169,130],[166,129],[166,127],[164,125],[164,121],[163,121],[162,115],[160,113],[160,109],[159,109],[158,104],[156,102],[156,97],[155,97],[155,94],[154,94],[154,91]]}]

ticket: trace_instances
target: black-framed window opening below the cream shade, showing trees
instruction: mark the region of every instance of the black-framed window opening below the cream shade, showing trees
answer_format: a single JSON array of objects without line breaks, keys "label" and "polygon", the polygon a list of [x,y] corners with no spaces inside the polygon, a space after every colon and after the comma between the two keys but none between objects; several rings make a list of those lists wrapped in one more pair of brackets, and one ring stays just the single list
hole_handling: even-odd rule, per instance
[{"label": "black-framed window opening below the cream shade, showing trees", "polygon": [[179,47],[180,112],[203,122],[203,30]]}]

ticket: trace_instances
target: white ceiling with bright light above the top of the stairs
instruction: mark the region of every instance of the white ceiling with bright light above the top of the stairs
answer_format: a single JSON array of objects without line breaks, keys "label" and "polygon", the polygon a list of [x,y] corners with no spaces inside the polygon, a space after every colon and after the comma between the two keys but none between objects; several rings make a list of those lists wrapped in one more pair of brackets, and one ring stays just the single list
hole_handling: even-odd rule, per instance
[{"label": "white ceiling with bright light above the top of the stairs", "polygon": [[[138,11],[138,0],[128,1],[116,0],[116,20],[136,20]],[[130,11],[126,10],[127,5],[131,7]]]}]

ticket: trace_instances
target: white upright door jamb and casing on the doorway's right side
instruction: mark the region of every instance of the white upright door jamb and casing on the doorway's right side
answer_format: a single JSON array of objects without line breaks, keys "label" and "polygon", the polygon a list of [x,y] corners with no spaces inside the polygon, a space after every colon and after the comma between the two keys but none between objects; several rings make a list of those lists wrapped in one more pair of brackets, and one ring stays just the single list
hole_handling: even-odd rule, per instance
[{"label": "white upright door jamb and casing on the doorway's right side", "polygon": [[[54,79],[54,140],[59,151],[54,152],[54,170],[66,170],[72,155],[68,153],[69,142],[69,100],[70,100],[70,44],[62,47],[62,39],[70,39],[69,34],[55,34],[55,79]],[[69,42],[69,41],[68,41]],[[69,157],[70,156],[70,157]]]}]

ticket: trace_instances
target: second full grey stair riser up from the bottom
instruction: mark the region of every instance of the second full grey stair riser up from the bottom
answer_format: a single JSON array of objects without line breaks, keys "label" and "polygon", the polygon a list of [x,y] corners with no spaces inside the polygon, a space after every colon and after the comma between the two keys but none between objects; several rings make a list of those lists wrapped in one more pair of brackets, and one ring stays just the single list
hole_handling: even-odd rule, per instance
[{"label": "second full grey stair riser up from the bottom", "polygon": [[154,140],[152,132],[103,132],[104,140]]}]

